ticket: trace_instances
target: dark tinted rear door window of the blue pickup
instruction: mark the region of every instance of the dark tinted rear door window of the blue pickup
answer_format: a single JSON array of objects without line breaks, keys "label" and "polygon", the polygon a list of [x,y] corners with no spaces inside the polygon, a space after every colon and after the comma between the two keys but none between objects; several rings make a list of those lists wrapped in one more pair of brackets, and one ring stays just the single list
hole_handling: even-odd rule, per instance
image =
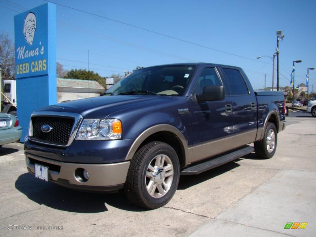
[{"label": "dark tinted rear door window of the blue pickup", "polygon": [[238,70],[229,68],[223,70],[232,89],[232,95],[249,94],[246,82]]}]

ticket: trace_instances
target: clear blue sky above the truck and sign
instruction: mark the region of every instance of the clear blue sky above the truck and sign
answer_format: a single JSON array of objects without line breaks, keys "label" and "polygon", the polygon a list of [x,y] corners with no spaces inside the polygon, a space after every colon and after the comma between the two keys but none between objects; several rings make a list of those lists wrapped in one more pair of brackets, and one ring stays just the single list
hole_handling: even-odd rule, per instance
[{"label": "clear blue sky above the truck and sign", "polygon": [[[89,50],[90,69],[101,76],[124,74],[124,70],[132,70],[137,65],[197,61],[240,66],[255,89],[264,87],[263,74],[266,73],[267,87],[271,87],[272,60],[267,57],[257,60],[256,57],[272,57],[276,50],[276,30],[282,30],[285,35],[279,45],[279,67],[283,75],[280,75],[280,86],[290,85],[293,60],[303,61],[296,64],[295,86],[306,83],[307,68],[316,68],[316,1],[52,2],[254,60],[57,5],[57,61],[68,70],[88,68]],[[0,30],[10,33],[13,38],[14,15],[23,12],[24,8],[31,9],[44,3],[43,0],[0,0]],[[310,71],[309,79],[310,91],[312,84],[316,90],[316,70]]]}]

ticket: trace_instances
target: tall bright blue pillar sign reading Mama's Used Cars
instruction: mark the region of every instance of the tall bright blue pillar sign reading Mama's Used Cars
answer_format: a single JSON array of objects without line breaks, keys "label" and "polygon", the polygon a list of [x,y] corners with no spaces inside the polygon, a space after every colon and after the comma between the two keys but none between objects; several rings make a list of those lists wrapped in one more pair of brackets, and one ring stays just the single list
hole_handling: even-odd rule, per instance
[{"label": "tall bright blue pillar sign reading Mama's Used Cars", "polygon": [[56,5],[46,3],[14,17],[17,116],[28,134],[31,114],[56,104]]}]

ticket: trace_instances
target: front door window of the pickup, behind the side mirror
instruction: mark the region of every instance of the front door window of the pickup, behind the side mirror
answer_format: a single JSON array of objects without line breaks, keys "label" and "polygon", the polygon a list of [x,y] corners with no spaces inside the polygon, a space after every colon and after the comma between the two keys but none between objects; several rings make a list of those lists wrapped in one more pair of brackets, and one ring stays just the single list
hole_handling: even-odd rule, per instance
[{"label": "front door window of the pickup, behind the side mirror", "polygon": [[205,68],[194,85],[193,93],[202,94],[205,86],[222,86],[215,68]]}]

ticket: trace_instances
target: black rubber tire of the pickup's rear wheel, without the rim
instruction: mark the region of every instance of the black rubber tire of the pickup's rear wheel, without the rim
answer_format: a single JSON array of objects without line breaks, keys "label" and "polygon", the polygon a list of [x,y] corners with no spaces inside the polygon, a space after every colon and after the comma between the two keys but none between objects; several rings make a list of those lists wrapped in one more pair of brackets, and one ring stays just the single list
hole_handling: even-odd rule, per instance
[{"label": "black rubber tire of the pickup's rear wheel, without the rim", "polygon": [[[273,149],[271,149],[271,145],[270,145],[269,150],[268,150],[268,145],[269,145],[268,140],[270,139],[270,136],[269,136],[270,131],[273,131],[275,141],[274,141]],[[270,159],[276,152],[276,144],[277,144],[276,126],[273,123],[268,123],[264,130],[263,139],[254,143],[255,153],[261,159]]]}]

